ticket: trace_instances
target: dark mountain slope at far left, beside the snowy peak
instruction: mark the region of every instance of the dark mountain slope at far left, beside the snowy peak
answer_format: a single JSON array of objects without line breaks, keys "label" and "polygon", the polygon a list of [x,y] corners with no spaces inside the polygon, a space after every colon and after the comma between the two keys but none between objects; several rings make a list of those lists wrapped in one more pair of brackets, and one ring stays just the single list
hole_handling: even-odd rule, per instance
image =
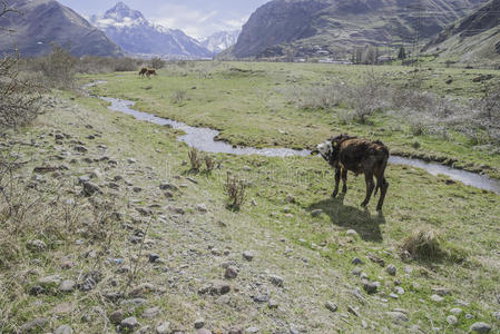
[{"label": "dark mountain slope at far left, beside the snowy peak", "polygon": [[68,48],[75,56],[122,56],[106,35],[92,27],[73,10],[53,0],[10,0],[10,12],[0,18],[0,27],[13,29],[13,33],[0,33],[0,52],[11,52],[16,45],[21,56],[42,56],[51,50],[51,43]]}]

